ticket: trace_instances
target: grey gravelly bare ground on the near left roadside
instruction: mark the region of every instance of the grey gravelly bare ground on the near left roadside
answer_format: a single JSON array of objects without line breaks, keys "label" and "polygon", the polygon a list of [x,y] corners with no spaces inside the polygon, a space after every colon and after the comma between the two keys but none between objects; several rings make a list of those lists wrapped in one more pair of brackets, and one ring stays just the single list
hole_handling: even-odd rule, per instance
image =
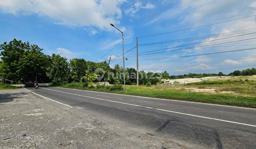
[{"label": "grey gravelly bare ground on the near left roadside", "polygon": [[143,128],[92,117],[24,89],[0,91],[0,148],[185,148]]}]

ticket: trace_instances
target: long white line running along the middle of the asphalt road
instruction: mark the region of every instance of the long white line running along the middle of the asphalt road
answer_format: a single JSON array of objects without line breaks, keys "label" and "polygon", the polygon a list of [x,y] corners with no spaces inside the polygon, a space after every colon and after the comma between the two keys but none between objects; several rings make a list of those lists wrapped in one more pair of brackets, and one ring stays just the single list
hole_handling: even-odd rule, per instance
[{"label": "long white line running along the middle of the asphalt road", "polygon": [[[47,89],[47,88],[44,88],[44,89]],[[111,101],[111,102],[114,102],[114,103],[121,103],[121,104],[126,104],[126,105],[132,105],[132,106],[138,106],[138,107],[145,107],[145,108],[149,108],[149,109],[155,109],[155,110],[161,110],[161,111],[172,112],[172,113],[176,113],[176,114],[189,115],[189,116],[194,116],[194,117],[201,117],[201,118],[207,118],[207,119],[211,119],[211,120],[217,120],[217,121],[223,121],[223,122],[229,122],[229,123],[235,123],[235,124],[240,124],[240,125],[246,125],[246,126],[256,127],[256,125],[250,125],[250,124],[245,124],[245,123],[239,123],[239,122],[221,120],[221,119],[217,119],[217,118],[204,117],[204,116],[198,116],[198,115],[193,115],[193,114],[186,114],[186,113],[181,113],[181,112],[175,112],[175,111],[169,111],[169,110],[164,110],[164,109],[158,109],[158,108],[154,108],[154,107],[147,107],[147,106],[140,106],[140,105],[134,105],[134,104],[127,104],[127,103],[122,103],[122,102],[119,102],[119,101],[113,101],[113,100],[95,98],[95,97],[90,97],[90,96],[84,96],[84,95],[66,93],[66,92],[61,92],[61,91],[53,90],[53,89],[48,89],[48,90],[52,90],[52,91],[60,92],[60,93],[65,93],[65,94],[71,94],[71,95],[77,95],[77,96],[87,97],[87,98],[94,98],[94,99],[99,99],[99,100]]]}]

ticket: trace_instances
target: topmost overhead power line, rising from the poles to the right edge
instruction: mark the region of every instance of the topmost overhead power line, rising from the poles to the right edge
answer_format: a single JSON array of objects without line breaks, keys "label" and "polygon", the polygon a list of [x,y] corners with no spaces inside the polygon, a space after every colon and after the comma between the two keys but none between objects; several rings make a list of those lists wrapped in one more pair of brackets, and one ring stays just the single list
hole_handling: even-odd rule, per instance
[{"label": "topmost overhead power line, rising from the poles to the right edge", "polygon": [[[201,27],[212,26],[212,25],[215,25],[215,24],[220,24],[220,23],[225,23],[225,22],[240,20],[240,19],[249,18],[249,17],[254,17],[254,16],[256,16],[256,15],[247,16],[247,17],[242,17],[242,18],[236,18],[236,19],[233,19],[233,20],[222,21],[222,22],[207,24],[207,25],[198,26],[198,27],[192,27],[192,28],[187,28],[187,29],[181,29],[181,30],[172,31],[172,32],[166,32],[166,33],[160,33],[160,34],[153,34],[153,35],[141,36],[141,37],[138,37],[138,38],[145,38],[145,37],[151,37],[151,36],[156,36],[156,35],[169,34],[169,33],[181,32],[181,31],[187,31],[187,30],[190,30],[190,29],[196,29],[196,28],[201,28]],[[135,38],[128,38],[128,39],[135,39]],[[126,40],[127,40],[127,39],[126,39]]]}]

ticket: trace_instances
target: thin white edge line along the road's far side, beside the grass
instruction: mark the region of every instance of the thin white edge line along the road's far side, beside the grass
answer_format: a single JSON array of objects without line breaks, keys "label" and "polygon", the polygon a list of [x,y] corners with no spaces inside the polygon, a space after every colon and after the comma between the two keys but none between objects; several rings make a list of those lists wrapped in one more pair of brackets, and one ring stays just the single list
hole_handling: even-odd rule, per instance
[{"label": "thin white edge line along the road's far side, beside the grass", "polygon": [[[48,84],[46,84],[48,85]],[[50,86],[50,85],[48,85]],[[50,86],[54,87],[54,86]],[[114,95],[123,95],[123,96],[132,96],[132,97],[138,97],[138,98],[149,98],[149,99],[157,99],[157,100],[169,100],[169,101],[176,101],[176,102],[183,102],[183,103],[192,103],[192,104],[204,104],[204,105],[214,105],[214,106],[226,106],[226,107],[235,107],[235,108],[241,108],[241,109],[251,109],[256,110],[254,108],[250,107],[239,107],[239,106],[229,106],[229,105],[218,105],[218,104],[208,104],[208,103],[198,103],[198,102],[192,102],[192,101],[182,101],[182,100],[173,100],[173,99],[162,99],[162,98],[153,98],[153,97],[144,97],[144,96],[135,96],[135,95],[126,95],[126,94],[116,94],[116,93],[105,93],[105,92],[96,92],[91,90],[81,90],[81,89],[74,89],[74,88],[63,88],[63,87],[57,87],[62,89],[73,89],[73,90],[80,90],[85,92],[95,92],[95,93],[102,93],[102,94],[114,94]]]}]

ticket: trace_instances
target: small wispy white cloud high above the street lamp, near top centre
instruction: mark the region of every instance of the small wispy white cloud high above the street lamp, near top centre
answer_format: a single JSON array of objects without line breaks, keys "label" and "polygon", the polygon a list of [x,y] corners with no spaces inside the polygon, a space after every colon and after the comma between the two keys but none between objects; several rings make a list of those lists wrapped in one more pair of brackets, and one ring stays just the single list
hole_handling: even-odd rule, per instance
[{"label": "small wispy white cloud high above the street lamp, near top centre", "polygon": [[146,4],[145,6],[142,6],[142,3],[140,1],[137,1],[134,3],[134,5],[132,7],[130,7],[127,10],[124,10],[124,13],[126,15],[131,15],[131,16],[135,16],[135,14],[140,10],[140,9],[153,9],[155,6],[153,4],[151,4],[150,2],[148,4]]}]

